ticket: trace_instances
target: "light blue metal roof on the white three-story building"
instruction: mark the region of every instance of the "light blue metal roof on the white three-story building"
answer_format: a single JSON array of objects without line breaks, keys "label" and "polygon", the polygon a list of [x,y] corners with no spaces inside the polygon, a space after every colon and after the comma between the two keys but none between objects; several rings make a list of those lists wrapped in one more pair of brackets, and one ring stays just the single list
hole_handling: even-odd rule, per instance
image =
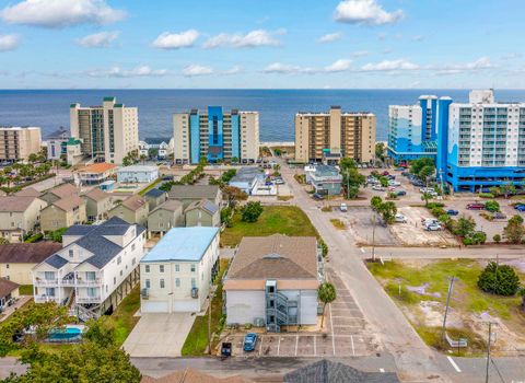
[{"label": "light blue metal roof on the white three-story building", "polygon": [[167,260],[195,260],[205,255],[219,228],[173,228],[149,252],[141,263]]}]

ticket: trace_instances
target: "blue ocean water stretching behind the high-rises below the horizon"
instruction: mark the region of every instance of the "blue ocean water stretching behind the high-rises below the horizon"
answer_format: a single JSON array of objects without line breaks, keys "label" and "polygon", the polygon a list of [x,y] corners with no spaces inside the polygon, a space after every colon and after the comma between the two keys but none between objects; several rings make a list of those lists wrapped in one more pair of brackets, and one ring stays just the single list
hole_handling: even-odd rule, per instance
[{"label": "blue ocean water stretching behind the high-rises below the horizon", "polygon": [[[139,108],[139,135],[170,139],[172,114],[209,105],[257,111],[261,141],[293,141],[296,112],[323,112],[339,105],[377,116],[377,139],[386,140],[388,105],[415,104],[421,94],[468,101],[468,90],[0,90],[0,126],[39,126],[43,138],[69,129],[69,105],[100,105],[104,96]],[[525,90],[495,91],[498,101],[525,102]]]}]

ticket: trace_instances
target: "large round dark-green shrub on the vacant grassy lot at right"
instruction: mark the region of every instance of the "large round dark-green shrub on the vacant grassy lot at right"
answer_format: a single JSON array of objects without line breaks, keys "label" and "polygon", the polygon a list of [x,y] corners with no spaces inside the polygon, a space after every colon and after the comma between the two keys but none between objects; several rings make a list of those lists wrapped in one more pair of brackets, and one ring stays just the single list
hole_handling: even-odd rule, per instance
[{"label": "large round dark-green shrub on the vacant grassy lot at right", "polygon": [[490,262],[479,275],[478,287],[485,292],[512,297],[520,289],[520,277],[511,266]]}]

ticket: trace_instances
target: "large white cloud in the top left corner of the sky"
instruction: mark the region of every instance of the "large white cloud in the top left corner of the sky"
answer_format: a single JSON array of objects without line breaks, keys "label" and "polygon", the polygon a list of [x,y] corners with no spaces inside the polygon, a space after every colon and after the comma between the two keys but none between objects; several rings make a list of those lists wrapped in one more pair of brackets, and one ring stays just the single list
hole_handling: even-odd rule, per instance
[{"label": "large white cloud in the top left corner of the sky", "polygon": [[79,24],[109,24],[126,18],[104,0],[24,0],[5,7],[0,16],[9,24],[61,28]]}]

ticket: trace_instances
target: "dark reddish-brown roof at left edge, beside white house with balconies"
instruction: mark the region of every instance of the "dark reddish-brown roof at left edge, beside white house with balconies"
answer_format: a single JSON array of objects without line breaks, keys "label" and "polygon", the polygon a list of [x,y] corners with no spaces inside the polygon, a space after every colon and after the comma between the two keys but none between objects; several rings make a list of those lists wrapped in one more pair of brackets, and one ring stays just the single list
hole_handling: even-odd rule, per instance
[{"label": "dark reddish-brown roof at left edge, beside white house with balconies", "polygon": [[56,242],[8,243],[0,246],[0,264],[39,264],[60,248]]}]

